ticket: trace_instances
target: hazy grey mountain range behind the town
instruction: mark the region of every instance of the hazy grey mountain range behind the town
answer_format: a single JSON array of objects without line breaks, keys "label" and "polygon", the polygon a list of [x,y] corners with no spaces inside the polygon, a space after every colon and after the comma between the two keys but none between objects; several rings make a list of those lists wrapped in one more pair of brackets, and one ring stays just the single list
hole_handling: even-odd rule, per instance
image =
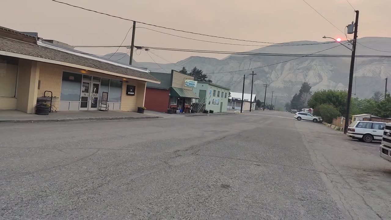
[{"label": "hazy grey mountain range behind the town", "polygon": [[[391,56],[391,38],[384,37],[365,37],[357,40],[357,55],[388,55]],[[317,51],[325,50],[316,54],[338,54],[351,55],[352,52],[342,45],[335,47],[338,43],[324,43],[317,41],[292,41],[291,44],[313,44],[300,46],[280,46],[271,45],[248,52],[256,53],[279,53],[279,54],[311,54]],[[347,47],[352,45],[346,44]],[[364,47],[365,46],[365,47]],[[329,49],[331,47],[335,47]],[[369,49],[369,48],[372,49]],[[194,48],[195,49],[195,48]],[[373,50],[375,49],[375,50]],[[111,55],[111,54],[107,54]],[[120,53],[115,54],[120,55]],[[152,56],[152,55],[151,55]],[[186,67],[191,70],[197,67],[204,73],[227,72],[234,70],[252,69],[291,60],[296,57],[287,56],[257,56],[233,54],[221,60],[215,58],[206,58],[200,56],[191,56],[177,63],[156,64],[154,62],[137,62],[133,65],[145,67],[151,72],[165,72],[171,69],[180,70]],[[116,60],[118,56],[111,59]],[[263,100],[265,87],[267,88],[267,101],[271,101],[271,91],[274,96],[278,96],[278,104],[289,101],[292,96],[298,92],[303,82],[308,82],[312,86],[312,92],[321,89],[347,90],[351,58],[341,57],[303,57],[289,62],[271,65],[269,67],[253,69],[254,76],[253,93],[257,94],[257,99]],[[129,63],[129,56],[119,60],[123,63]],[[164,69],[164,70],[163,70]],[[250,93],[251,78],[249,74],[252,70],[237,71],[230,73],[208,74],[208,79],[213,83],[231,88],[233,92],[241,92],[243,86],[243,75],[246,74],[245,92]],[[356,58],[355,74],[353,78],[353,97],[368,98],[374,91],[384,91],[385,78],[391,77],[391,58]],[[390,87],[391,88],[391,87]],[[274,101],[274,100],[273,100]]]}]

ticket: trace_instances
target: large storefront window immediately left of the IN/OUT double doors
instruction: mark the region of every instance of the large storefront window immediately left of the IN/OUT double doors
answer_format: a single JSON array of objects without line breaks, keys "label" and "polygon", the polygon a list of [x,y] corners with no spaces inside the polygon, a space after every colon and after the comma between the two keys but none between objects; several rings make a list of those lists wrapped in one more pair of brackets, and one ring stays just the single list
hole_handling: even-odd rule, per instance
[{"label": "large storefront window immediately left of the IN/OUT double doors", "polygon": [[63,72],[61,101],[80,101],[82,76],[77,73]]}]

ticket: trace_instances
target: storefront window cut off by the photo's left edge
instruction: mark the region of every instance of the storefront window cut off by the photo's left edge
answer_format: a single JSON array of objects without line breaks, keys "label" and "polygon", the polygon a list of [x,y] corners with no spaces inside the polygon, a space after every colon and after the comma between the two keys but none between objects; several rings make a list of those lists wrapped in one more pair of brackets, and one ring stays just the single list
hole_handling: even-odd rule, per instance
[{"label": "storefront window cut off by the photo's left edge", "polygon": [[15,97],[18,60],[0,56],[0,97]]}]

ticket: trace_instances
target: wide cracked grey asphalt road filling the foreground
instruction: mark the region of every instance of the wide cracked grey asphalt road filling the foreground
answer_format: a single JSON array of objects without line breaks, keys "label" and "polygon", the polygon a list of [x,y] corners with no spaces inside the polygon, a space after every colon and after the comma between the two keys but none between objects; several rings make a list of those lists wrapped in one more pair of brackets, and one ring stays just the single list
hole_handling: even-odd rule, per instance
[{"label": "wide cracked grey asphalt road filling the foreground", "polygon": [[0,219],[391,219],[391,164],[289,113],[0,124]]}]

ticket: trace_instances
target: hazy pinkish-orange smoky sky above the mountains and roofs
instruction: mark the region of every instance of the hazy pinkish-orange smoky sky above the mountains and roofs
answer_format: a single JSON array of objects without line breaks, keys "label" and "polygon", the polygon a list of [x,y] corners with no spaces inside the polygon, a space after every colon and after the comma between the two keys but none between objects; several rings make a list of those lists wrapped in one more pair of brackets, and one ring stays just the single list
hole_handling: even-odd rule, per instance
[{"label": "hazy pinkish-orange smoky sky above the mountains and roofs", "polygon": [[[322,41],[324,35],[341,37],[339,32],[303,0],[62,0],[96,11],[175,29],[246,40],[287,42]],[[353,20],[353,9],[346,0],[306,0],[339,29]],[[389,22],[391,0],[349,0],[360,11],[359,37],[391,37]],[[119,45],[133,24],[50,0],[2,0],[0,26],[17,31],[38,32],[39,37],[70,45]],[[149,27],[146,25],[141,25]],[[149,27],[201,40],[246,43],[208,38]],[[131,32],[124,45],[131,44]],[[135,45],[186,49],[248,51],[258,47],[220,45],[168,36],[136,29]],[[116,48],[80,49],[95,54],[114,52]],[[125,48],[119,52],[126,52]],[[153,62],[145,51],[136,61]],[[300,52],[300,50],[298,50]],[[315,51],[314,51],[315,52]],[[165,60],[177,62],[188,56],[224,58],[226,54],[154,51]],[[167,63],[151,54],[159,63]]]}]

